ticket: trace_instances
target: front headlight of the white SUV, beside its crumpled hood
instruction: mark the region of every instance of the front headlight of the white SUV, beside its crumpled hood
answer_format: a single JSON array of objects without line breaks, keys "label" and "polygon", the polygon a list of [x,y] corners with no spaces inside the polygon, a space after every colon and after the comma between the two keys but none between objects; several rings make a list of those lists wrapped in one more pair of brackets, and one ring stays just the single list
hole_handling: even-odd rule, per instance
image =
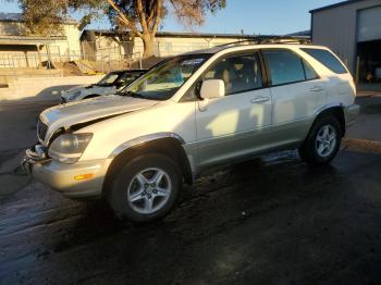
[{"label": "front headlight of the white SUV, beside its crumpled hood", "polygon": [[63,163],[75,163],[84,153],[91,138],[93,134],[63,134],[51,144],[49,157]]}]

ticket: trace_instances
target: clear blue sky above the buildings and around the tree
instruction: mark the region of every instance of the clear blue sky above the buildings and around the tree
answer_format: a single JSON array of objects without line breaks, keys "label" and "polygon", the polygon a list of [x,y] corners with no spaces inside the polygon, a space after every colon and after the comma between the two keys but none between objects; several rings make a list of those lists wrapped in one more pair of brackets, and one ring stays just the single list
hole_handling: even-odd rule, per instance
[{"label": "clear blue sky above the buildings and around the tree", "polygon": [[[205,24],[192,30],[169,16],[161,30],[285,35],[310,28],[309,11],[316,8],[341,2],[342,0],[226,0],[226,8],[216,15],[208,14]],[[0,0],[0,12],[20,12],[16,1]],[[78,13],[73,15],[81,18]],[[87,28],[109,28],[107,20],[90,24]]]}]

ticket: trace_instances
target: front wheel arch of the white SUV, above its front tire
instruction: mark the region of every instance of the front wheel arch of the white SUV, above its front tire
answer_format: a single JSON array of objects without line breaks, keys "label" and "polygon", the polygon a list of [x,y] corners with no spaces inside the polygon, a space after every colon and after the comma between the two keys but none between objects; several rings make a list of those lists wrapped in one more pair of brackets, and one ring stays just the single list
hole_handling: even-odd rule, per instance
[{"label": "front wheel arch of the white SUV, above its front tire", "polygon": [[128,140],[119,146],[109,158],[112,159],[108,168],[102,191],[110,189],[111,182],[118,170],[128,160],[145,153],[161,153],[171,158],[177,163],[184,182],[193,184],[193,172],[187,154],[183,148],[184,139],[173,133],[158,133],[148,136],[142,136]]}]

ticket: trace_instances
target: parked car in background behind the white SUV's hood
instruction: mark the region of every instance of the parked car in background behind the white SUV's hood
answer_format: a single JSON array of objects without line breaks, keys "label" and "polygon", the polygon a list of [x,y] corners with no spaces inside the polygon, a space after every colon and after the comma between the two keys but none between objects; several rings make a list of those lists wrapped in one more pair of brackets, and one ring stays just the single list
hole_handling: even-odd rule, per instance
[{"label": "parked car in background behind the white SUV's hood", "polygon": [[100,82],[91,84],[89,86],[76,86],[69,90],[62,91],[61,103],[71,101],[79,101],[83,99],[89,99],[101,95],[112,95],[136,78],[145,74],[146,70],[127,70],[127,71],[113,71],[108,73]]}]

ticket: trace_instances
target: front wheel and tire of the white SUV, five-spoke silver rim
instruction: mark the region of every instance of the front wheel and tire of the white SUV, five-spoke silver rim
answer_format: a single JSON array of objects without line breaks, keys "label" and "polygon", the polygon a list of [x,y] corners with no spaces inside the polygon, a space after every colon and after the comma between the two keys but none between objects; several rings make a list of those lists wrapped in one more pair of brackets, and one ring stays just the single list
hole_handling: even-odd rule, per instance
[{"label": "front wheel and tire of the white SUV, five-spoke silver rim", "polygon": [[[145,154],[124,164],[107,194],[122,220],[151,222],[174,207],[182,188],[179,166],[162,154]],[[157,179],[156,179],[157,178]]]}]

